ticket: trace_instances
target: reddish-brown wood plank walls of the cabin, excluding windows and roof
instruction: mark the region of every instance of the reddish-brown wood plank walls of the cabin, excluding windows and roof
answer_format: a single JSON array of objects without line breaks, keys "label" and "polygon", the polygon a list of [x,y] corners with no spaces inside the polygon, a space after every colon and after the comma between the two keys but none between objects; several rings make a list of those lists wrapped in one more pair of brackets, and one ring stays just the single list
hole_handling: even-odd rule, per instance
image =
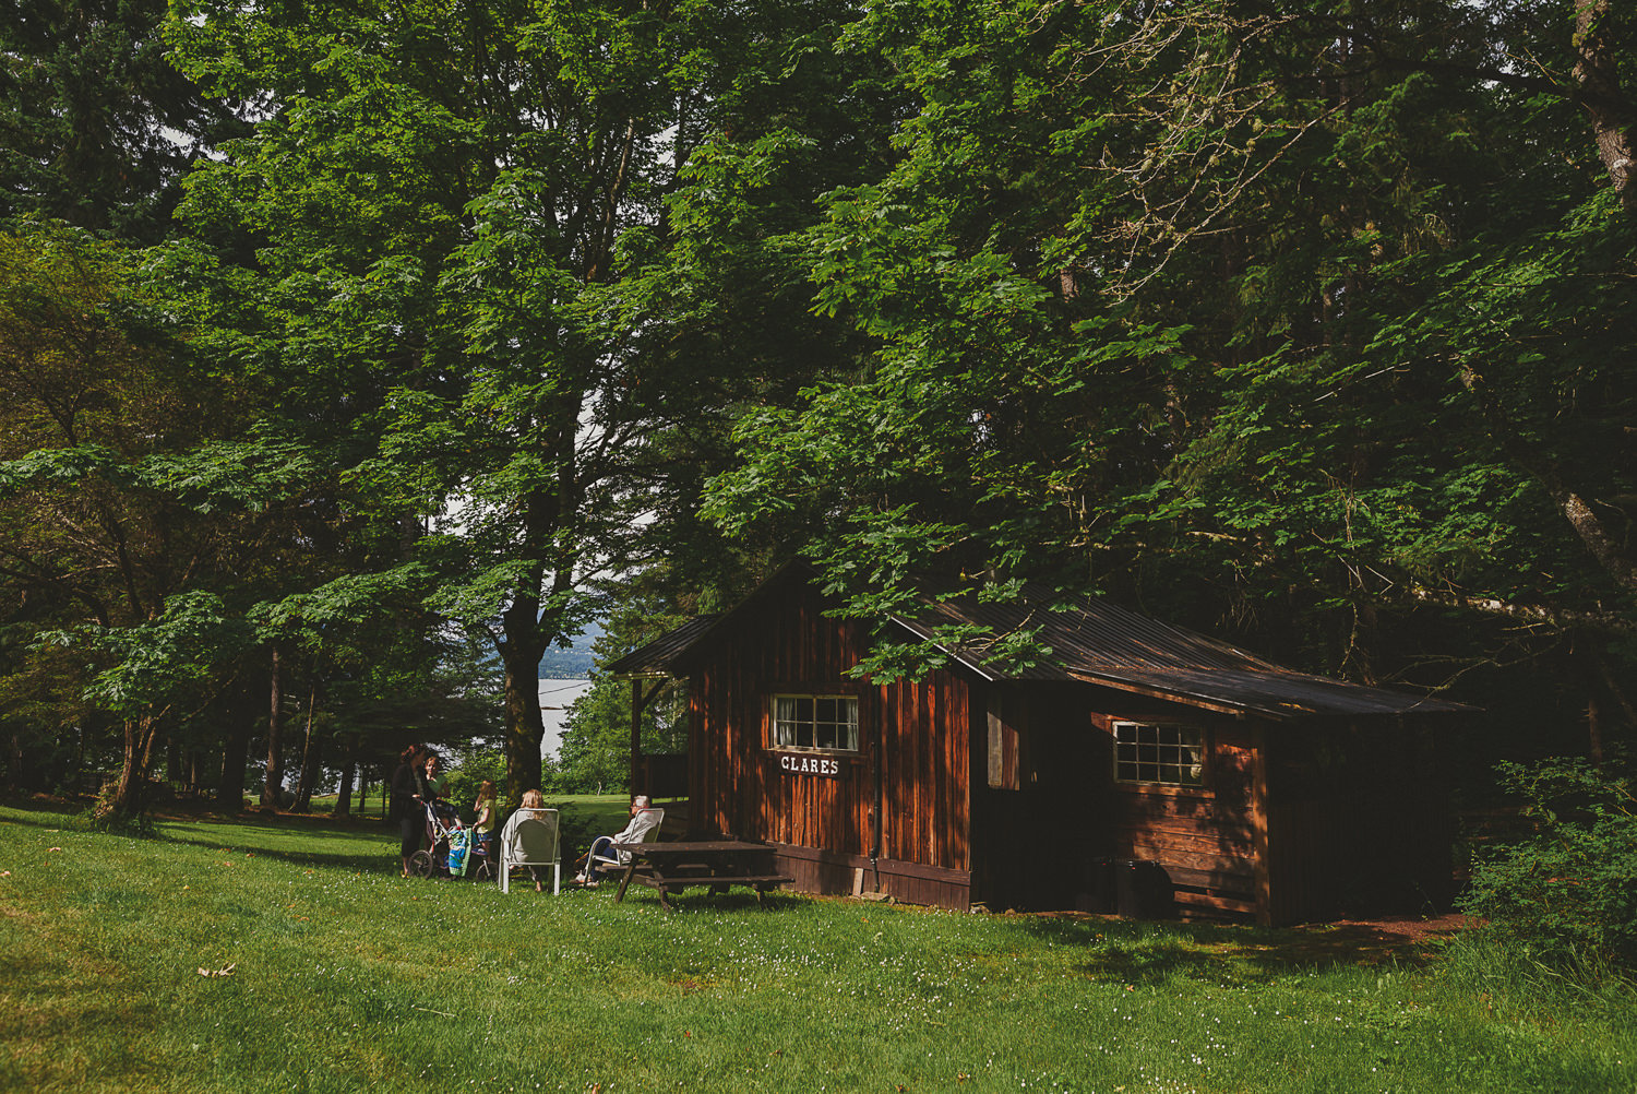
[{"label": "reddish-brown wood plank walls of the cabin, excluding windows and roof", "polygon": [[[869,631],[823,609],[776,581],[688,655],[691,829],[776,843],[800,889],[1085,907],[1100,863],[1133,860],[1159,863],[1184,912],[1275,924],[1447,897],[1426,722],[1270,722],[964,670],[864,685],[848,670]],[[858,698],[859,750],[823,753],[833,776],[779,768],[781,693]],[[1200,727],[1205,784],[1116,781],[1116,721]]]}]

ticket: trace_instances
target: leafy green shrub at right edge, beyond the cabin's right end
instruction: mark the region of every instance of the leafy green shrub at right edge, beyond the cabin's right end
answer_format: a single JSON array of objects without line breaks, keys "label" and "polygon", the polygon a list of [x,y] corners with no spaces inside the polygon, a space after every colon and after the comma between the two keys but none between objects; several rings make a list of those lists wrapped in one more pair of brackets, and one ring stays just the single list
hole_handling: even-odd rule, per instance
[{"label": "leafy green shrub at right edge, beyond the cabin's right end", "polygon": [[1542,961],[1637,968],[1637,798],[1629,778],[1586,760],[1503,763],[1524,798],[1529,839],[1481,855],[1462,911]]}]

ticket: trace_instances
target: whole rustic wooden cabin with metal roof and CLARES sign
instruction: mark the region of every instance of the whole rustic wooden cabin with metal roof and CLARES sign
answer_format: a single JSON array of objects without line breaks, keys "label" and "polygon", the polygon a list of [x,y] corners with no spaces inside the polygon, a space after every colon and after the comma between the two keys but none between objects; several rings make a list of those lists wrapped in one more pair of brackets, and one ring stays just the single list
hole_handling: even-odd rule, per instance
[{"label": "whole rustic wooden cabin with metal roof and CLARES sign", "polygon": [[886,626],[1028,621],[1044,662],[1002,671],[948,649],[922,680],[866,683],[848,670],[876,627],[827,616],[796,565],[609,668],[688,680],[689,829],[774,843],[802,891],[1264,924],[1447,899],[1432,734],[1470,707],[1292,671],[1098,599],[1031,599],[928,601]]}]

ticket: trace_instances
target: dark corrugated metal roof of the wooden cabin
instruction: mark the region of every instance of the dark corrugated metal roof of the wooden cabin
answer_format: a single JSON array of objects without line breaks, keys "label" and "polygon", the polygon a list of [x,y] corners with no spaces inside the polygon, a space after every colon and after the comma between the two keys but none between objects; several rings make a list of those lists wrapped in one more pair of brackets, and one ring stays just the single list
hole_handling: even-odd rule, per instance
[{"label": "dark corrugated metal roof of the wooden cabin", "polygon": [[[782,570],[807,580],[805,568]],[[763,586],[766,588],[766,586]],[[755,594],[753,594],[755,596]],[[727,613],[732,616],[733,613]],[[607,667],[616,675],[665,675],[727,616],[701,616]],[[1429,696],[1369,688],[1275,665],[1226,642],[1139,616],[1100,598],[1061,598],[1026,586],[1007,603],[927,598],[913,616],[892,622],[938,644],[985,680],[1061,680],[1094,683],[1190,706],[1254,712],[1277,719],[1367,717],[1378,714],[1454,714],[1475,707]],[[1007,667],[985,644],[948,645],[940,626],[977,626],[994,635],[1035,632],[1046,652],[1036,663]]]}]

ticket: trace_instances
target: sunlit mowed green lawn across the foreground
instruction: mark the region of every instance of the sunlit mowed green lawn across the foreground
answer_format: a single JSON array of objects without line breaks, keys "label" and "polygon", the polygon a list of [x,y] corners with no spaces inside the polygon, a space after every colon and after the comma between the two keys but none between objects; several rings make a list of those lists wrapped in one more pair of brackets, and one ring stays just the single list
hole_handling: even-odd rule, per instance
[{"label": "sunlit mowed green lawn across the foreground", "polygon": [[[0,809],[16,1091],[1637,1089],[1621,986],[1481,947],[404,881],[380,830]],[[219,971],[206,976],[200,970]]]}]

